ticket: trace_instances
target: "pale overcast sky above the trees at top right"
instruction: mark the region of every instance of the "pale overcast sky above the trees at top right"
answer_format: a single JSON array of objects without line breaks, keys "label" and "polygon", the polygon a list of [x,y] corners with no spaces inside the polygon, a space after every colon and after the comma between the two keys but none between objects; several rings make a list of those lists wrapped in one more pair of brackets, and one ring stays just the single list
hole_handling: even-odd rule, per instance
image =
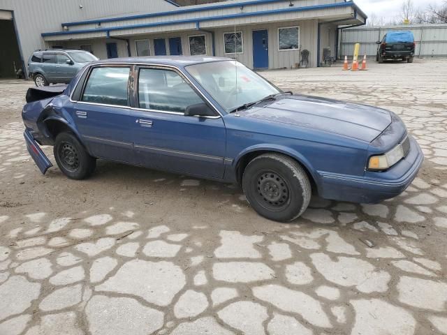
[{"label": "pale overcast sky above the trees at top right", "polygon": [[[439,5],[444,0],[413,0],[413,5],[417,8],[426,8],[429,3]],[[395,17],[399,15],[403,0],[354,0],[354,2],[367,15],[375,13],[378,17]]]}]

